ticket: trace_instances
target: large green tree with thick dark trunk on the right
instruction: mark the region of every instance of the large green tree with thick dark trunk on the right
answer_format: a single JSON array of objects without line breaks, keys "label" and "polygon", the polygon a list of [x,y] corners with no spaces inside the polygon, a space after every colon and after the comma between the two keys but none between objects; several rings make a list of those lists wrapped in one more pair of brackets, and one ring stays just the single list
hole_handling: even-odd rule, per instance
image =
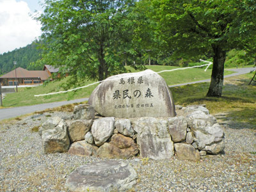
[{"label": "large green tree with thick dark trunk on the right", "polygon": [[141,0],[138,6],[145,4],[164,49],[182,58],[212,57],[207,96],[221,97],[227,51],[243,49],[256,35],[255,0]]}]

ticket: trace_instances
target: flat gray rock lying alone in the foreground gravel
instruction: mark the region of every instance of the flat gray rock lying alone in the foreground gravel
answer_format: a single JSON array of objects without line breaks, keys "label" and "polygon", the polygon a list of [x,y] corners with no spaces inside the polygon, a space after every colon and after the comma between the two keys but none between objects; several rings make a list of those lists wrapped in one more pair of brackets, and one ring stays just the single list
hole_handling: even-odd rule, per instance
[{"label": "flat gray rock lying alone in the foreground gravel", "polygon": [[68,175],[65,186],[70,191],[127,191],[136,184],[135,170],[122,161],[85,164]]}]

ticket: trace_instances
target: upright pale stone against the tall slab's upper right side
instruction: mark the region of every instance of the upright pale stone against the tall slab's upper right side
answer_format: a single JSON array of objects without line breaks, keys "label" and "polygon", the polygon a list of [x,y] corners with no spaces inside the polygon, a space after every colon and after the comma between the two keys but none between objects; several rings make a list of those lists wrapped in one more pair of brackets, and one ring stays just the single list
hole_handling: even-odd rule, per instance
[{"label": "upright pale stone against the tall slab's upper right side", "polygon": [[186,140],[187,121],[183,116],[168,118],[169,132],[174,143]]}]

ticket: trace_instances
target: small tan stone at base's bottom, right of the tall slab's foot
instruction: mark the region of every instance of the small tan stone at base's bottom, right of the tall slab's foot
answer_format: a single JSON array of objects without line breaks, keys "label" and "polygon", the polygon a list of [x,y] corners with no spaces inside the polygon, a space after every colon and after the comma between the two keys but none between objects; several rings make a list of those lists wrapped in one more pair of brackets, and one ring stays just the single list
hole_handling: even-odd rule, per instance
[{"label": "small tan stone at base's bottom, right of the tall slab's foot", "polygon": [[175,143],[175,152],[179,159],[198,161],[200,159],[200,152],[195,150],[192,145],[186,143]]}]

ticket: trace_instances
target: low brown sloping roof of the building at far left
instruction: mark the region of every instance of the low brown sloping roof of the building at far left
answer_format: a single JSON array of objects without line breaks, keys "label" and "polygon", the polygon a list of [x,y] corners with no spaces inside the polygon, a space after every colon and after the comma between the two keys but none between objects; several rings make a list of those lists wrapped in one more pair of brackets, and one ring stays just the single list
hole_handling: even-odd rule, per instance
[{"label": "low brown sloping roof of the building at far left", "polygon": [[[24,68],[16,68],[17,78],[40,78],[41,80],[46,80],[49,74],[45,70],[26,70]],[[15,70],[8,72],[0,77],[1,79],[15,78]]]}]

